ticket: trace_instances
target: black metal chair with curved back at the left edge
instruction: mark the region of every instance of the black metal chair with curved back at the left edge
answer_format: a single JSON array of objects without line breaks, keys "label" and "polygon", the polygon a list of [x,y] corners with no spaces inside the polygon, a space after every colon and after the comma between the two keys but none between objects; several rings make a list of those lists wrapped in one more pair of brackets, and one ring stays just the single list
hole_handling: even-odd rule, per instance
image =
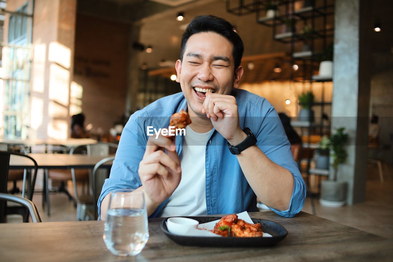
[{"label": "black metal chair with curved back at the left edge", "polygon": [[[15,153],[15,152],[6,152],[6,151],[0,151],[0,193],[6,193],[7,192],[7,182],[8,182],[8,172],[9,172],[9,159],[11,155],[17,155],[20,157],[26,157],[30,159],[33,164],[34,164],[34,173],[33,177],[31,178],[29,172],[25,172],[24,179],[23,179],[23,188],[22,188],[22,194],[24,196],[26,192],[26,176],[27,176],[27,181],[28,181],[28,189],[27,189],[27,199],[32,200],[33,199],[33,193],[34,193],[34,186],[35,186],[35,180],[37,178],[37,170],[38,170],[38,165],[37,162],[30,156],[20,154],[20,153]],[[9,207],[6,208],[6,201],[0,201],[0,223],[4,219],[4,214],[20,214],[24,216],[24,221],[28,221],[28,216],[26,212],[26,208],[24,207]]]}]

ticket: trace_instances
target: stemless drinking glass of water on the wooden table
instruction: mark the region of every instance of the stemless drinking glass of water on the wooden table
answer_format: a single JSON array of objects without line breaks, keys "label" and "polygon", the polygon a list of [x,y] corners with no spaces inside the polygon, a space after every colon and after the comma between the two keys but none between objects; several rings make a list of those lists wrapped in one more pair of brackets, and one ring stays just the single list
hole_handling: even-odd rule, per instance
[{"label": "stemless drinking glass of water on the wooden table", "polygon": [[114,255],[136,256],[141,253],[149,239],[143,191],[112,192],[103,238]]}]

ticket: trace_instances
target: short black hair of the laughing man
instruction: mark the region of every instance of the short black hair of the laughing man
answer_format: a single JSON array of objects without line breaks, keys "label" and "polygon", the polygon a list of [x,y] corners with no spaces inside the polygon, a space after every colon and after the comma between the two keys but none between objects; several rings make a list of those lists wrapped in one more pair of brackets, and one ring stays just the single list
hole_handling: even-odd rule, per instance
[{"label": "short black hair of the laughing man", "polygon": [[235,59],[235,69],[239,67],[244,45],[240,36],[235,32],[235,28],[230,22],[224,18],[216,17],[214,15],[198,15],[185,28],[185,32],[182,37],[182,44],[180,46],[180,60],[183,61],[183,55],[185,51],[185,45],[191,35],[196,33],[213,32],[222,35],[233,45],[232,55]]}]

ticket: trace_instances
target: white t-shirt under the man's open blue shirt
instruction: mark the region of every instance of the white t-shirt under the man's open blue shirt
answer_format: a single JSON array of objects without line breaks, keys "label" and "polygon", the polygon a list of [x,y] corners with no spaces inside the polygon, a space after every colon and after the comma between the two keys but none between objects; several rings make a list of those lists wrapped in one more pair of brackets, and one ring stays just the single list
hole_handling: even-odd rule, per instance
[{"label": "white t-shirt under the man's open blue shirt", "polygon": [[196,133],[185,127],[180,153],[182,179],[162,209],[161,217],[207,214],[205,153],[210,132]]}]

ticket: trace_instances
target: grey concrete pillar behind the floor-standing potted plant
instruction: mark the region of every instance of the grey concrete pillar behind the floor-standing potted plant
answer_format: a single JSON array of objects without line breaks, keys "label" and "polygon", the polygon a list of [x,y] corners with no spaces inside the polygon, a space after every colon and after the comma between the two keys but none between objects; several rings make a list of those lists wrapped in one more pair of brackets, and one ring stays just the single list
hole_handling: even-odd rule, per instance
[{"label": "grey concrete pillar behind the floor-standing potted plant", "polygon": [[371,81],[367,5],[367,0],[336,0],[334,11],[331,124],[332,132],[345,127],[350,137],[348,159],[338,173],[338,181],[348,183],[349,205],[365,200]]}]

